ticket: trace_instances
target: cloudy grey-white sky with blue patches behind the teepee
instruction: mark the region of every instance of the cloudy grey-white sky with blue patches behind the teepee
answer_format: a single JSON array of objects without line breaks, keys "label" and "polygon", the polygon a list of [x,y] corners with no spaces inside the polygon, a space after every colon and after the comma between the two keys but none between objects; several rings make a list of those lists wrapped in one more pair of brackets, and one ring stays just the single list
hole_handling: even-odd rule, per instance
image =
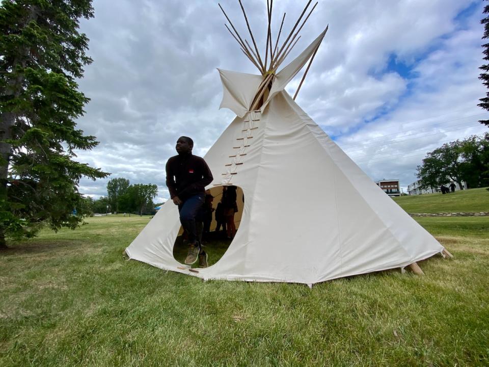
[{"label": "cloudy grey-white sky with blue patches behind the teepee", "polygon": [[[307,1],[275,0],[276,37],[283,13],[288,34]],[[313,3],[314,4],[314,3]],[[239,33],[246,23],[234,0],[222,0]],[[257,43],[264,48],[266,1],[243,0]],[[480,0],[320,0],[289,60],[330,28],[297,96],[297,103],[373,179],[398,178],[406,190],[427,151],[481,134],[477,107],[485,89]],[[100,145],[77,160],[155,183],[169,197],[165,163],[181,135],[204,155],[234,118],[219,110],[216,68],[256,73],[224,27],[213,0],[94,0],[83,20],[90,38],[80,89],[91,98],[78,127]],[[282,38],[283,40],[283,38]],[[289,83],[293,95],[302,72]],[[106,180],[83,179],[80,192],[106,195]]]}]

